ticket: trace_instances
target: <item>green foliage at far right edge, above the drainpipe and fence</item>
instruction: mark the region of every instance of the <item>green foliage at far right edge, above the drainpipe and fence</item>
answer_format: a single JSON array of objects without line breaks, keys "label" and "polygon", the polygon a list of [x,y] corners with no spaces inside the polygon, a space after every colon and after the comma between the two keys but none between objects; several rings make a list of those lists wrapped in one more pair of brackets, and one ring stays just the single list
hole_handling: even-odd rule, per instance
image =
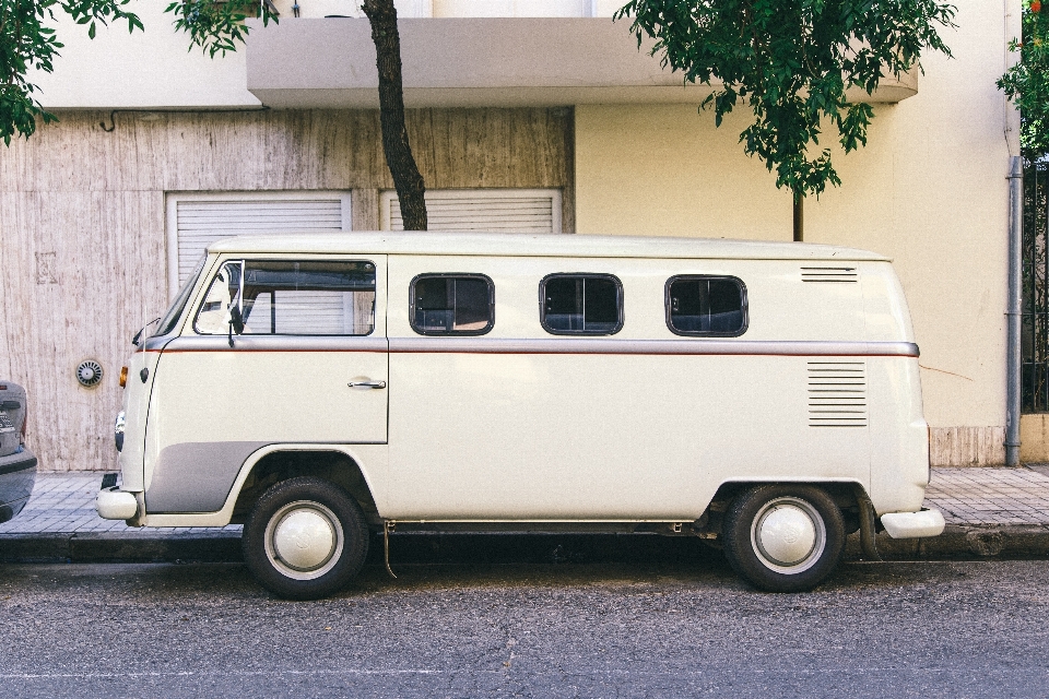
[{"label": "green foliage at far right edge, above the drainpipe and fence", "polygon": [[1049,8],[1040,5],[1024,3],[1022,40],[1009,44],[1019,51],[1019,62],[998,81],[1019,108],[1019,146],[1028,162],[1049,156]]}]

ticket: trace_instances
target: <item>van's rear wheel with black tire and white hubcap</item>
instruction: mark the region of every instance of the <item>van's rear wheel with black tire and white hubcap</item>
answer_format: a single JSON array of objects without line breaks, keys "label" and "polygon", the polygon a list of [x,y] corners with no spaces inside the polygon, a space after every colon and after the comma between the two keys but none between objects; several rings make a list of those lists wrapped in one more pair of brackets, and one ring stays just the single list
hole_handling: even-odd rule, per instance
[{"label": "van's rear wheel with black tire and white hubcap", "polygon": [[841,510],[809,485],[763,485],[740,494],[721,532],[732,569],[767,592],[812,590],[845,550]]}]

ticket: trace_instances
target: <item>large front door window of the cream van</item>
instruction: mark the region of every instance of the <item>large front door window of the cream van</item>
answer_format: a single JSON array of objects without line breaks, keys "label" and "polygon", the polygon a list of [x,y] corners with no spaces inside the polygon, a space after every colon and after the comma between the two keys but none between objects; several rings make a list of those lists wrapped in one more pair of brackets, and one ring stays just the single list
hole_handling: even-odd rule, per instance
[{"label": "large front door window of the cream van", "polygon": [[198,333],[226,334],[229,307],[238,303],[244,334],[367,335],[375,329],[370,262],[246,260],[243,285],[232,271],[226,264],[215,276],[197,315]]}]

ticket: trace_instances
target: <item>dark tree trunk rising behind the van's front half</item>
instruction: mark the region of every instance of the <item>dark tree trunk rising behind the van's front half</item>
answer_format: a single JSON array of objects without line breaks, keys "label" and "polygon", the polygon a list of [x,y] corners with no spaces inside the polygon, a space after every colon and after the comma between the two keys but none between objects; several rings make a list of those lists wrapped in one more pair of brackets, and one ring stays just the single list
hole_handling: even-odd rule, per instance
[{"label": "dark tree trunk rising behind the van's front half", "polygon": [[364,0],[361,9],[372,23],[376,66],[379,69],[379,120],[382,152],[401,203],[405,230],[426,230],[426,187],[412,156],[404,127],[404,95],[401,85],[401,38],[397,32],[393,0]]}]

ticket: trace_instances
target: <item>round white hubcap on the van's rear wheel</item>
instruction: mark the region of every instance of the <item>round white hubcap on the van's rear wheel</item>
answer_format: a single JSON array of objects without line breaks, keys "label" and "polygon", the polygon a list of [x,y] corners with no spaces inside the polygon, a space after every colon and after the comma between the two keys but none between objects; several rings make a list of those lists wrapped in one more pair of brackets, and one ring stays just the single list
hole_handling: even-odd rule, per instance
[{"label": "round white hubcap on the van's rear wheel", "polygon": [[826,546],[826,526],[820,513],[800,498],[776,498],[754,518],[754,550],[779,572],[799,573],[811,568]]}]

